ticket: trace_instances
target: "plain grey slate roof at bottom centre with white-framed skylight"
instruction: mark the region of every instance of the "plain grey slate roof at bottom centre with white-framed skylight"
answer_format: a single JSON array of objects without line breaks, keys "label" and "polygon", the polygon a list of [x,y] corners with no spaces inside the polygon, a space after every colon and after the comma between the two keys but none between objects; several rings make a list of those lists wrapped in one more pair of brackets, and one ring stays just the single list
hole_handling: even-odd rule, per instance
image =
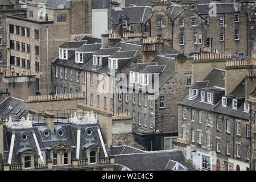
[{"label": "plain grey slate roof at bottom centre with white-framed skylight", "polygon": [[185,159],[181,149],[164,151],[144,151],[139,153],[114,155],[115,163],[121,164],[132,171],[164,171],[169,160],[183,164],[188,170],[192,170],[191,164]]}]

